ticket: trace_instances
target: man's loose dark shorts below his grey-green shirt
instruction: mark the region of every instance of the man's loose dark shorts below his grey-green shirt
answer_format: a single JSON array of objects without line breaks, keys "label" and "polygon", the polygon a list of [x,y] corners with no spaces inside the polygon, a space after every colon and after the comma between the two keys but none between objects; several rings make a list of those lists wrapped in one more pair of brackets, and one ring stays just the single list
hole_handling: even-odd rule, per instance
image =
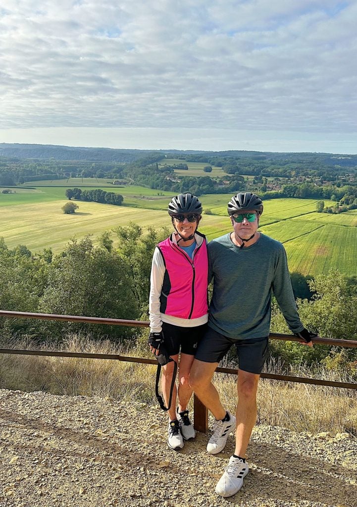
[{"label": "man's loose dark shorts below his grey-green shirt", "polygon": [[239,369],[261,374],[268,354],[268,337],[234,340],[207,327],[199,343],[195,359],[204,363],[219,363],[232,345],[236,346]]}]

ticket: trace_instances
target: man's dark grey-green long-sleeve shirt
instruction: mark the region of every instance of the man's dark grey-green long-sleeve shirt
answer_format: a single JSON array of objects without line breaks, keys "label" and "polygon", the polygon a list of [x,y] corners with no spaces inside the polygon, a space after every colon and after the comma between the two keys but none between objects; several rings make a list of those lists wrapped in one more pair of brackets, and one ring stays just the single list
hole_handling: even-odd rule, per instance
[{"label": "man's dark grey-green long-sleeve shirt", "polygon": [[297,312],[283,245],[260,234],[252,246],[239,248],[229,234],[208,243],[213,295],[208,325],[233,339],[269,335],[271,295],[293,332],[304,326]]}]

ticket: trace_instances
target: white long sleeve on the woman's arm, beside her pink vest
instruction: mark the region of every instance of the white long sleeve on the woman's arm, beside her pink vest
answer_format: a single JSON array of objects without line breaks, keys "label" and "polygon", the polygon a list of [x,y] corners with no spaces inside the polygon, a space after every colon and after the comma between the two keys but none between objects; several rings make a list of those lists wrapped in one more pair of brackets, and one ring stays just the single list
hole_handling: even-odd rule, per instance
[{"label": "white long sleeve on the woman's arm, beside her pink vest", "polygon": [[149,319],[150,331],[160,333],[160,296],[164,282],[165,265],[160,250],[156,247],[153,255],[150,275]]}]

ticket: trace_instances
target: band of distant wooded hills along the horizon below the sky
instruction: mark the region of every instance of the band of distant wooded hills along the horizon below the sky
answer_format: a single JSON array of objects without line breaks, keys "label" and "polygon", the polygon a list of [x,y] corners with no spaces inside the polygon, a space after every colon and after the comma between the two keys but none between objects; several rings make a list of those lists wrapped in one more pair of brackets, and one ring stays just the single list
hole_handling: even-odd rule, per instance
[{"label": "band of distant wooded hills along the horizon below the sky", "polygon": [[[183,176],[165,159],[222,167],[222,176]],[[227,175],[228,174],[228,175]],[[245,177],[244,177],[245,176]],[[247,178],[247,176],[251,176]],[[255,191],[262,197],[331,199],[357,205],[357,155],[254,151],[116,150],[0,143],[0,186],[69,177],[119,179],[172,193]],[[268,180],[269,178],[269,180]],[[337,209],[336,208],[336,209]]]}]

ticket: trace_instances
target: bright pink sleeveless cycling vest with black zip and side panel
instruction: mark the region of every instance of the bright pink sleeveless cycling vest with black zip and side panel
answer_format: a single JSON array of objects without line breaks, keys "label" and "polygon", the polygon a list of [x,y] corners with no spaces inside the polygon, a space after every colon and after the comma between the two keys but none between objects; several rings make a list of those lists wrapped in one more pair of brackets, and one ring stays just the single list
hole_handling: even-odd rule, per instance
[{"label": "bright pink sleeveless cycling vest with black zip and side panel", "polygon": [[160,312],[180,318],[198,318],[208,312],[208,258],[206,238],[195,248],[193,260],[180,246],[172,242],[172,235],[157,246],[165,264],[160,296]]}]

